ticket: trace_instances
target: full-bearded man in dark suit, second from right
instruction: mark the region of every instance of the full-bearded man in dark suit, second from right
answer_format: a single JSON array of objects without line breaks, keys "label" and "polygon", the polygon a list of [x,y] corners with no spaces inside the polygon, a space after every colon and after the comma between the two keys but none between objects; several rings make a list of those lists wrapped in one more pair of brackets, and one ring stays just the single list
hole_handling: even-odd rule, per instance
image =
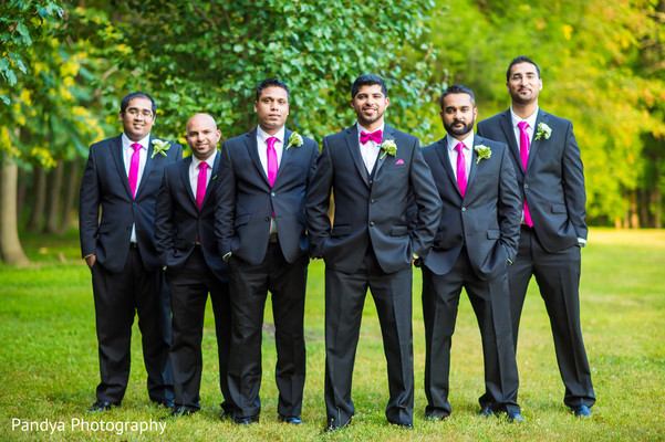
[{"label": "full-bearded man in dark suit, second from right", "polygon": [[522,421],[512,399],[519,386],[506,267],[517,254],[520,194],[505,144],[474,135],[478,109],[471,90],[450,86],[441,96],[445,138],[423,149],[443,201],[441,223],[423,264],[425,393],[429,420],[450,414],[450,345],[461,287],[482,337],[486,401],[480,411]]}]

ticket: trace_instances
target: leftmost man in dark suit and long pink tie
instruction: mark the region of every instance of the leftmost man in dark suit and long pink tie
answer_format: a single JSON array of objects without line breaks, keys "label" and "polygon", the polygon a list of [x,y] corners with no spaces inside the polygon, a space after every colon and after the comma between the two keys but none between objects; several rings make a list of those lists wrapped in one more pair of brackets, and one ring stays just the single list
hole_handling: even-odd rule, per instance
[{"label": "leftmost man in dark suit and long pink tie", "polygon": [[90,411],[121,406],[135,312],[149,398],[173,408],[170,299],[155,250],[154,215],[164,168],[183,157],[183,148],[150,136],[156,110],[149,95],[127,95],[120,110],[123,134],[90,147],[81,180],[81,252],[92,272],[101,371]]}]

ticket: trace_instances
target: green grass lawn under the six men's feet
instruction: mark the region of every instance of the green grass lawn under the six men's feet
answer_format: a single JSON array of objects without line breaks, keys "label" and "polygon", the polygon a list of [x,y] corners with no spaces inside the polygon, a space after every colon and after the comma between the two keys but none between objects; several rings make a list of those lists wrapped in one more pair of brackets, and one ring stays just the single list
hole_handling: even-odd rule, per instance
[{"label": "green grass lawn under the six men's feet", "polygon": [[[263,339],[261,422],[237,428],[220,420],[221,394],[211,309],[206,312],[201,412],[160,420],[168,413],[150,403],[145,388],[138,329],[134,327],[132,373],[123,407],[103,414],[85,412],[98,382],[91,277],[79,259],[77,236],[24,239],[33,264],[0,265],[0,441],[656,441],[665,440],[665,231],[594,229],[582,255],[582,330],[598,402],[593,417],[575,419],[563,406],[549,320],[531,285],[520,329],[520,404],[526,422],[511,424],[476,415],[484,391],[480,335],[463,296],[453,341],[450,403],[446,422],[424,421],[425,339],[420,274],[414,272],[415,429],[388,425],[384,410],[387,380],[374,303],[367,298],[354,371],[356,415],[350,428],[323,434],[323,264],[310,266],[305,328],[308,380],[302,419],[288,427],[277,420],[274,341]],[[272,323],[267,308],[266,323]],[[74,427],[83,421],[90,429]],[[153,423],[141,433],[123,422]],[[33,429],[23,431],[23,425]],[[55,425],[42,431],[46,422]],[[59,422],[63,424],[59,428]],[[41,423],[42,430],[34,429]],[[164,432],[156,429],[164,425]],[[95,425],[102,425],[104,430]],[[110,427],[105,427],[110,425]],[[62,431],[61,431],[62,429]]]}]

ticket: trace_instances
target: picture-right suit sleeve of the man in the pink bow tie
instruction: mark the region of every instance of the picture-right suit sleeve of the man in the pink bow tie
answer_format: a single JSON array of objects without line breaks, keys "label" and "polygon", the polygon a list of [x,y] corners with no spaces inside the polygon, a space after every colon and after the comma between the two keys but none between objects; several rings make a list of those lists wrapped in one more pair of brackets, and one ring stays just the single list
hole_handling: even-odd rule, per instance
[{"label": "picture-right suit sleeve of the man in the pink bow tie", "polygon": [[[412,250],[415,254],[425,256],[429,252],[429,246],[440,222],[441,199],[436,190],[429,166],[423,158],[420,144],[417,139],[412,155],[411,187],[413,201],[417,208],[415,224],[409,221],[411,225],[415,225],[411,232]],[[409,204],[413,204],[413,202],[409,202]],[[414,215],[411,215],[411,219],[413,220]]]}]

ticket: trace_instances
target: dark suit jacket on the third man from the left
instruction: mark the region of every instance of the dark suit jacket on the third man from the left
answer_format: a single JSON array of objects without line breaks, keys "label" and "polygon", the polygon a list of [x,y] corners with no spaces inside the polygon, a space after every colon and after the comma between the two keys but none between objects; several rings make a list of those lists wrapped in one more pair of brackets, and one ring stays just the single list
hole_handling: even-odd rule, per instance
[{"label": "dark suit jacket on the third man from the left", "polygon": [[285,129],[284,150],[272,188],[259,159],[257,129],[224,143],[216,212],[222,256],[231,252],[250,264],[260,264],[268,249],[273,211],[287,262],[295,262],[308,252],[304,196],[314,175],[319,145],[302,137],[302,146],[287,149],[291,134]]}]

